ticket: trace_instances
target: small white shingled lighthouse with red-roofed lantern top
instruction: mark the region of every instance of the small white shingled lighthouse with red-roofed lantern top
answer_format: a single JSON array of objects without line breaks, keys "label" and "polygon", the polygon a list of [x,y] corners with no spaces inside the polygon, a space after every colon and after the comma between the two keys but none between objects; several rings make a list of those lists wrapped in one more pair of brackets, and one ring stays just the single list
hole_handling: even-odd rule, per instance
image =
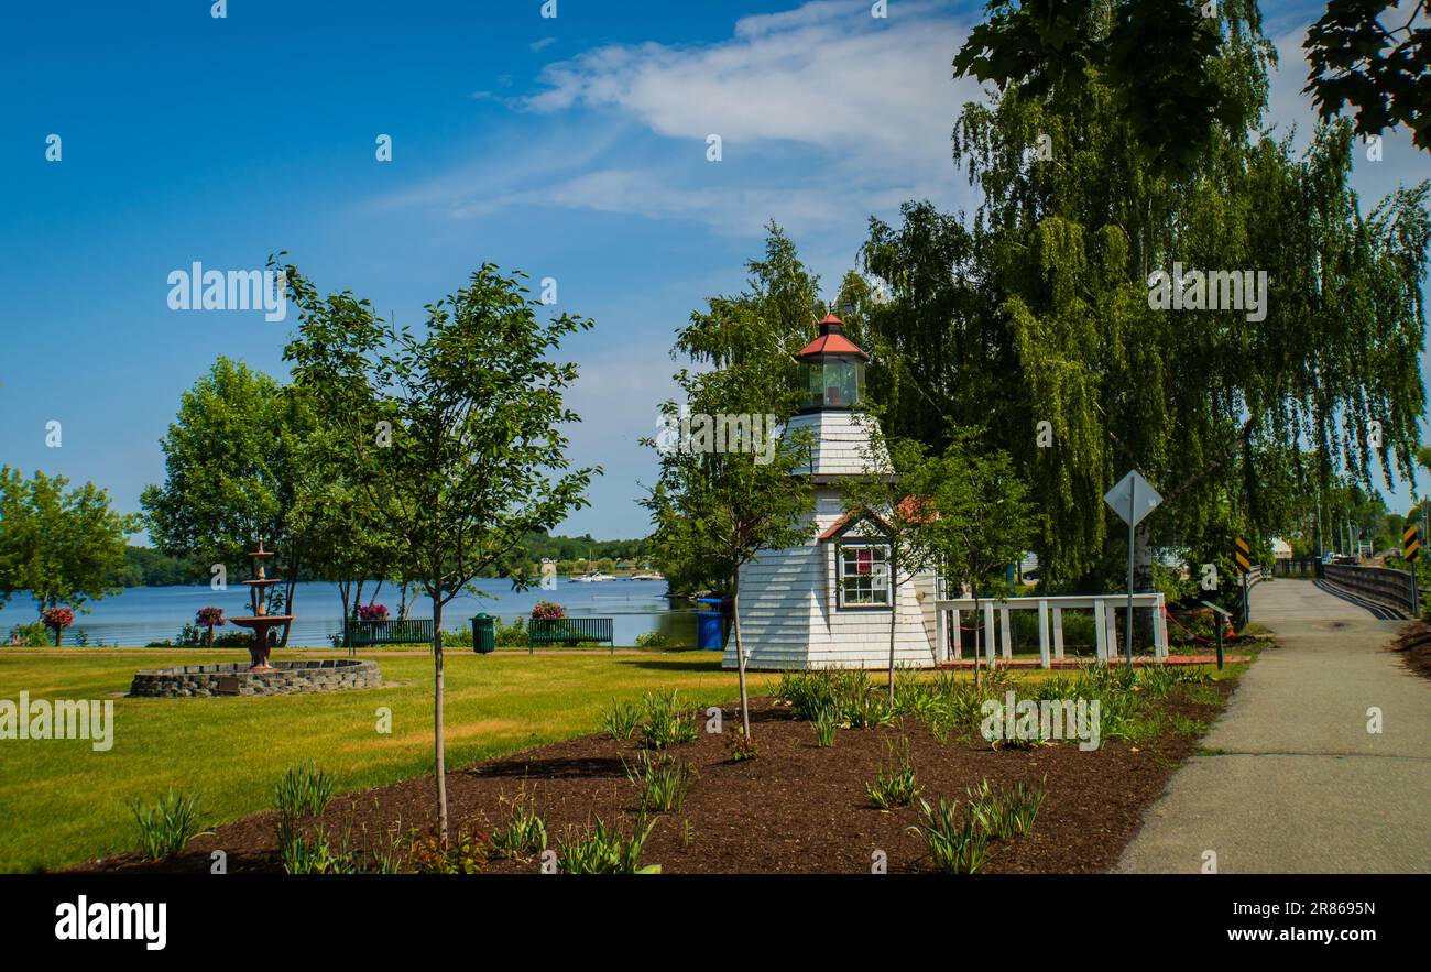
[{"label": "small white shingled lighthouse with red-roofed lantern top", "polygon": [[[797,472],[814,490],[813,524],[804,545],[763,551],[740,571],[737,603],[750,669],[886,669],[896,597],[894,663],[936,661],[933,573],[892,591],[880,524],[846,517],[841,504],[841,480],[890,472],[889,461],[871,449],[874,419],[856,411],[866,361],[834,315],[826,315],[820,335],[800,352],[807,391],[786,428],[813,434],[810,464]],[[723,666],[736,667],[734,637]]]}]

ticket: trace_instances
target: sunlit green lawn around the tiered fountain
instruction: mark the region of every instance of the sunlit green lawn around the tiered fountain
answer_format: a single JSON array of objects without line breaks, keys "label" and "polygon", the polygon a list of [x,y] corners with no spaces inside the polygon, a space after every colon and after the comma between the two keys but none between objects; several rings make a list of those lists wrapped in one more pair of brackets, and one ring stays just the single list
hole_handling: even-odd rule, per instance
[{"label": "sunlit green lawn around the tiered fountain", "polygon": [[[130,800],[169,787],[197,793],[206,822],[269,809],[283,772],[313,760],[358,790],[431,772],[432,661],[373,657],[392,683],[333,694],[258,699],[122,699],[136,669],[233,661],[238,653],[0,651],[0,699],[113,699],[113,749],[87,740],[0,740],[0,870],[62,867],[133,846]],[[280,653],[279,657],[283,657]],[[774,676],[751,674],[754,687]],[[446,656],[448,766],[601,727],[612,697],[680,689],[708,704],[734,699],[720,654],[499,653]],[[378,709],[392,710],[379,734]]]}]

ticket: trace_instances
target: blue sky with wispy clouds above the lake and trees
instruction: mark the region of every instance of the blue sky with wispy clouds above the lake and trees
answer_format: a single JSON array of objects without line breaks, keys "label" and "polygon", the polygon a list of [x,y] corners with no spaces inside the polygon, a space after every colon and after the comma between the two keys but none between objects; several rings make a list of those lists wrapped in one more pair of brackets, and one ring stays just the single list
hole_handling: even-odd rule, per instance
[{"label": "blue sky with wispy clouds above the lake and trees", "polygon": [[[482,261],[555,278],[560,308],[597,321],[568,345],[571,458],[605,467],[562,531],[634,537],[673,334],[741,288],[768,219],[829,289],[870,215],[975,203],[949,130],[977,92],[949,62],[982,4],[890,0],[883,20],[864,0],[558,0],[555,19],[539,0],[33,6],[0,14],[0,461],[93,480],[126,511],[218,355],[285,374],[292,319],[170,311],[176,268],[286,249],[322,289],[408,322]],[[1264,4],[1284,54],[1272,119],[1304,132],[1317,10]],[[1428,170],[1391,136],[1357,166],[1364,209]]]}]

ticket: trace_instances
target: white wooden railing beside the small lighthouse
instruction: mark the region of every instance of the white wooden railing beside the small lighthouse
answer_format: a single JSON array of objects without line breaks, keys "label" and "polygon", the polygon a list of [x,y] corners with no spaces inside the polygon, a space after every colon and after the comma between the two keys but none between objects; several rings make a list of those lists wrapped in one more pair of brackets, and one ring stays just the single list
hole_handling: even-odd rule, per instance
[{"label": "white wooden railing beside the small lighthouse", "polygon": [[[1005,660],[1013,658],[1013,637],[1009,633],[1009,614],[1012,611],[1036,611],[1039,617],[1039,664],[1045,669],[1053,661],[1063,658],[1063,611],[1092,610],[1093,631],[1098,647],[1099,664],[1108,664],[1109,657],[1120,657],[1118,647],[1118,624],[1115,611],[1128,607],[1128,594],[1093,594],[1093,596],[1055,596],[1055,597],[1009,597],[1003,600],[980,598],[977,603],[985,616],[983,630],[985,656],[989,667],[995,664],[995,614],[999,616],[1000,656]],[[1153,657],[1159,661],[1168,657],[1168,621],[1163,616],[1162,594],[1133,594],[1133,607],[1153,608]],[[973,614],[975,598],[954,597],[934,601],[934,653],[939,661],[963,658],[963,631],[959,618],[964,613]],[[949,621],[953,621],[950,624]],[[950,644],[949,631],[954,633]],[[970,644],[972,647],[972,644]],[[953,648],[953,657],[950,657]]]}]

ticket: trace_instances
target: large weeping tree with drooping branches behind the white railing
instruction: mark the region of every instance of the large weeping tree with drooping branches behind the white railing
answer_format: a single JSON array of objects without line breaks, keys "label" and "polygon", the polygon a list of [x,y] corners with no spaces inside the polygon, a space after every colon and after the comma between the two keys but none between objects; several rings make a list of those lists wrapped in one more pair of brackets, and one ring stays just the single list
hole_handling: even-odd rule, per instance
[{"label": "large weeping tree with drooping branches behind the white railing", "polygon": [[[1115,6],[1082,6],[1078,30],[1106,39]],[[902,226],[871,220],[861,253],[887,295],[867,326],[890,379],[871,388],[934,447],[949,419],[986,425],[1042,507],[1055,585],[1115,575],[1102,494],[1130,467],[1165,497],[1138,534],[1141,590],[1155,545],[1299,523],[1294,497],[1339,471],[1369,484],[1374,457],[1388,482],[1411,471],[1428,186],[1364,215],[1349,126],[1301,155],[1261,132],[1275,54],[1255,4],[1219,17],[1205,72],[1246,125],[1208,117],[1169,166],[1096,64],[1010,82],[954,126],[977,210],[909,203]],[[1251,273],[1254,296],[1265,272],[1266,288],[1234,309],[1155,309],[1151,279],[1175,265]]]}]

